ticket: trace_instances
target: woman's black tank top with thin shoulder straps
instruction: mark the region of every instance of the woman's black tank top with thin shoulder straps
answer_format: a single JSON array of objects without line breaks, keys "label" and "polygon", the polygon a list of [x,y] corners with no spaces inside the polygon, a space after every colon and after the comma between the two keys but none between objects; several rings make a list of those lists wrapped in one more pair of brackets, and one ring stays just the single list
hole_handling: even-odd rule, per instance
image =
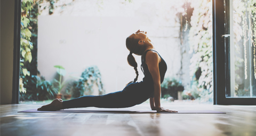
[{"label": "woman's black tank top with thin shoulder straps", "polygon": [[[153,78],[148,70],[148,65],[146,64],[146,54],[148,51],[155,51],[155,50],[147,50],[141,56],[141,70],[145,75],[145,77],[143,78],[143,82],[147,83],[148,85],[154,86]],[[155,52],[157,52],[157,51],[155,51]],[[159,55],[158,52],[157,52],[157,54]],[[164,75],[167,70],[167,65],[166,65],[164,59],[161,57],[161,55],[159,55],[159,57],[161,58],[161,62],[158,63],[158,67],[159,67],[159,73],[160,73],[160,78],[161,78],[161,83],[162,83],[164,81]],[[153,90],[154,90],[154,88],[153,88]]]}]

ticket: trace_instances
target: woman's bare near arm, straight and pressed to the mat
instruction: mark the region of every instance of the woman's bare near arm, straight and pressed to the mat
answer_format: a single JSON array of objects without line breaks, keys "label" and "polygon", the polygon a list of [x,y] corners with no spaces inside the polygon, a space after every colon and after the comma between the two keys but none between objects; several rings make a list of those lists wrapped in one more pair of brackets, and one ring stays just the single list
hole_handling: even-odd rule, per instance
[{"label": "woman's bare near arm, straight and pressed to the mat", "polygon": [[[148,65],[148,70],[153,78],[154,82],[154,98],[150,98],[150,107],[151,109],[154,108],[158,112],[177,112],[174,110],[168,110],[161,107],[160,103],[160,97],[161,97],[161,77],[159,73],[159,67],[158,63],[161,61],[161,58],[159,57],[157,52],[154,51],[148,51],[146,54],[146,64]],[[154,103],[155,105],[154,105]],[[153,110],[153,109],[152,109]]]}]

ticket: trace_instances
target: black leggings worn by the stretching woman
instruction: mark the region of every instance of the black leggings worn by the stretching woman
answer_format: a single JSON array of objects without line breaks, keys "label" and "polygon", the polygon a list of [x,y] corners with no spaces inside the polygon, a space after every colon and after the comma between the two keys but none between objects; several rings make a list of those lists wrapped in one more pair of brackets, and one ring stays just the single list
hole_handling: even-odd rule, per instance
[{"label": "black leggings worn by the stretching woman", "polygon": [[136,82],[127,85],[122,91],[97,96],[88,95],[63,101],[62,106],[63,109],[82,107],[126,108],[139,105],[146,101],[151,94],[152,88],[143,82]]}]

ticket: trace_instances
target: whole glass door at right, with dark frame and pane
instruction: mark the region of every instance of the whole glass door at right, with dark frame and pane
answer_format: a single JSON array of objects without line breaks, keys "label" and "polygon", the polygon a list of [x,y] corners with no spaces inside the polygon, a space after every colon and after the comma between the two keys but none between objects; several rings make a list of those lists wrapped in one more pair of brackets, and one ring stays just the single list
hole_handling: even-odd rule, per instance
[{"label": "whole glass door at right, with dark frame and pane", "polygon": [[256,1],[213,0],[215,105],[256,105]]}]

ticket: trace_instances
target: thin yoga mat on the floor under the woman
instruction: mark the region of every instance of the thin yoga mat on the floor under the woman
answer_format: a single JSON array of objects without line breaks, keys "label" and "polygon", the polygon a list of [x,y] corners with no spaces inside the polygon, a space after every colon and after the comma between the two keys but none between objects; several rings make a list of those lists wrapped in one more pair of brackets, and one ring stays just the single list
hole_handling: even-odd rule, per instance
[{"label": "thin yoga mat on the floor under the woman", "polygon": [[[161,113],[161,114],[226,114],[215,110],[177,110],[178,113]],[[57,111],[38,111],[29,109],[19,111],[18,113],[105,113],[105,114],[154,114],[154,110],[118,110],[118,109],[63,109]]]}]

